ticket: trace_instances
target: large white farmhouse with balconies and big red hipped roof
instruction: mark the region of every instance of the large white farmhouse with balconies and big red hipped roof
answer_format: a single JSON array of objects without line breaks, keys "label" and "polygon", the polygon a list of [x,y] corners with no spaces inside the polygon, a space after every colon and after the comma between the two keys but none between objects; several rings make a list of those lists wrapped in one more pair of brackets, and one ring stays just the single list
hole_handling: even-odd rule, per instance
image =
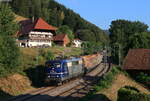
[{"label": "large white farmhouse with balconies and big red hipped roof", "polygon": [[53,34],[56,27],[49,25],[42,18],[35,21],[25,20],[21,22],[18,32],[20,47],[52,46]]}]

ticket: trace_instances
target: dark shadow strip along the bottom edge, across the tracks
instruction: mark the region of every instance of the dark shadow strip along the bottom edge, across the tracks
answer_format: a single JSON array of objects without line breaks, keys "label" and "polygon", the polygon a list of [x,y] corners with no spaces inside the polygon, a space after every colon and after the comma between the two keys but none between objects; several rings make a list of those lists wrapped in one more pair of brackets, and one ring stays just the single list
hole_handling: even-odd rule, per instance
[{"label": "dark shadow strip along the bottom edge, across the tracks", "polygon": [[27,100],[32,100],[32,101],[111,101],[109,100],[105,95],[103,94],[96,94],[93,95],[91,98],[88,97],[80,97],[80,96],[50,96],[47,94],[38,94],[38,95],[31,95],[31,94],[25,94],[25,95],[20,95],[16,97],[12,97],[9,100],[5,101],[12,101],[12,100],[17,100],[17,101],[27,101]]}]

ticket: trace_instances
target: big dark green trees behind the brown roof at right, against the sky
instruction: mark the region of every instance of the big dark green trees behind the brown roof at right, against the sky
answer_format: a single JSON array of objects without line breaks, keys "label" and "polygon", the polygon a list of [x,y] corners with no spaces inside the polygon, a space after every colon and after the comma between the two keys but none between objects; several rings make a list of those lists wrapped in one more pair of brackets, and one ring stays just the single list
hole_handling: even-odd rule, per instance
[{"label": "big dark green trees behind the brown roof at right, against the sky", "polygon": [[129,49],[149,48],[148,26],[142,22],[112,21],[109,31],[113,59],[120,65]]}]

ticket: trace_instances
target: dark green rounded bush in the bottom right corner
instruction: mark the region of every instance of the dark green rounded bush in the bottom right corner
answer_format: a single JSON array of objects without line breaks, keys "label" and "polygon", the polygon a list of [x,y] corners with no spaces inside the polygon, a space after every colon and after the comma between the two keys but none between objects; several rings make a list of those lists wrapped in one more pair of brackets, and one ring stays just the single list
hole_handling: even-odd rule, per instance
[{"label": "dark green rounded bush in the bottom right corner", "polygon": [[[132,89],[131,89],[132,88]],[[134,87],[123,87],[118,91],[117,101],[150,101],[150,95],[140,93]]]}]

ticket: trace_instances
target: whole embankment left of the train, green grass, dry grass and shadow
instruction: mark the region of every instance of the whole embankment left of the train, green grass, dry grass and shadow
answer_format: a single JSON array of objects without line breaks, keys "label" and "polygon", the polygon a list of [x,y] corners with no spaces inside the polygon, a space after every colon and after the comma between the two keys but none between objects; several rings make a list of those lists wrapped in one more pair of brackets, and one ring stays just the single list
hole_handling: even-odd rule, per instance
[{"label": "whole embankment left of the train, green grass, dry grass and shadow", "polygon": [[[44,63],[47,61],[46,57],[42,55],[42,52],[47,53],[49,51],[54,57],[80,56],[82,54],[82,49],[72,47],[20,48],[21,64],[19,69],[12,73],[6,73],[6,76],[0,77],[0,100],[8,96],[18,95],[31,88],[41,87],[44,80]],[[16,74],[19,75],[14,77]],[[25,79],[23,81],[23,78],[27,80]],[[24,87],[24,85],[27,87]],[[16,89],[16,87],[18,89]]]}]

